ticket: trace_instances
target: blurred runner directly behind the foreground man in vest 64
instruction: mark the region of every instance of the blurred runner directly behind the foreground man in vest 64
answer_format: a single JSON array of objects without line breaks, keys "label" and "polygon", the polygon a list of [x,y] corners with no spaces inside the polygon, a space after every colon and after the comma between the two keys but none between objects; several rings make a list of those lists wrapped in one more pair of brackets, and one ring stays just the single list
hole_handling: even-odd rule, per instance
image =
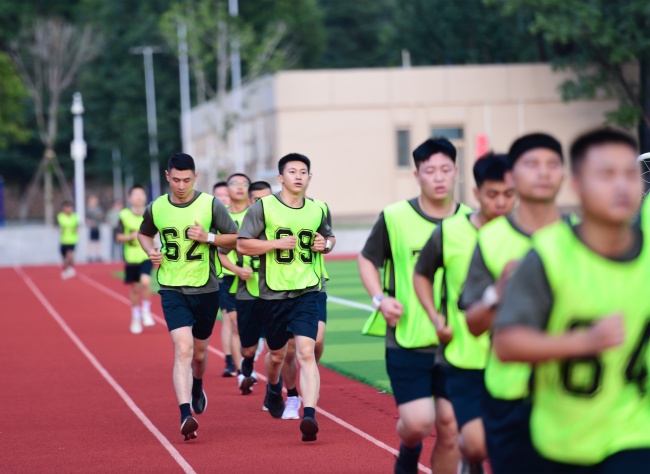
[{"label": "blurred runner directly behind the foreground man in vest 64", "polygon": [[[561,217],[555,205],[564,177],[560,143],[546,134],[524,135],[512,144],[508,157],[519,205],[510,216],[479,230],[460,298],[459,307],[476,336],[490,329],[501,287],[530,249],[532,234]],[[530,374],[530,366],[503,364],[493,351],[488,356],[483,426],[494,474],[531,472],[536,464],[526,400]]]}]

